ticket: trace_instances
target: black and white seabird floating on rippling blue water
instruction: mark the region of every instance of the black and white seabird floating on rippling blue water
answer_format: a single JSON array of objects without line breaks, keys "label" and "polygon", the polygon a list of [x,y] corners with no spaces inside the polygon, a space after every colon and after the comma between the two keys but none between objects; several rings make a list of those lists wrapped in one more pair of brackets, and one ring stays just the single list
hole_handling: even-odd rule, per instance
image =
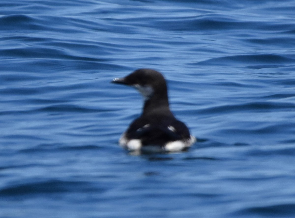
[{"label": "black and white seabird floating on rippling blue water", "polygon": [[173,152],[196,142],[186,125],[170,111],[166,81],[158,71],[138,69],[112,83],[135,87],[145,99],[142,114],[122,134],[120,146],[130,151],[152,148]]}]

